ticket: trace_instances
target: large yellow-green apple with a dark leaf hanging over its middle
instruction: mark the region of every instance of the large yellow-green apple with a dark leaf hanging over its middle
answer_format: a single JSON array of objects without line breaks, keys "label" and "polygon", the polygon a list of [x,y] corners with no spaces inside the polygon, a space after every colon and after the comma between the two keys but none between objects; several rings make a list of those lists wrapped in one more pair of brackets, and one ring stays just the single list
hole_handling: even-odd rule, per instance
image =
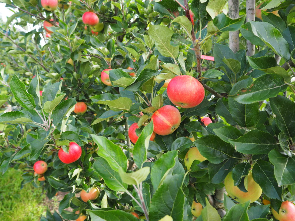
[{"label": "large yellow-green apple with a dark leaf hanging over its middle", "polygon": [[224,187],[226,189],[226,192],[235,199],[237,202],[244,203],[248,200],[253,203],[256,201],[262,194],[262,189],[256,183],[252,177],[252,173],[249,172],[249,174],[245,177],[244,180],[245,188],[248,192],[241,191],[237,186],[234,186],[234,180],[232,179],[232,172],[227,174],[226,178],[224,179]]}]

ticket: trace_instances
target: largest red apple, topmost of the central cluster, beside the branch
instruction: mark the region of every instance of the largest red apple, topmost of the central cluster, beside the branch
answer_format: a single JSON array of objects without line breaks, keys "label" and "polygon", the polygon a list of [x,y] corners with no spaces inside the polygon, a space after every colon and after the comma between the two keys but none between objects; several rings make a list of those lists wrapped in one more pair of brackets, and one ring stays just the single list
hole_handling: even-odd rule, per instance
[{"label": "largest red apple, topmost of the central cluster, beside the branch", "polygon": [[193,108],[199,105],[205,96],[203,85],[194,77],[180,75],[173,77],[167,87],[171,102],[182,108]]}]

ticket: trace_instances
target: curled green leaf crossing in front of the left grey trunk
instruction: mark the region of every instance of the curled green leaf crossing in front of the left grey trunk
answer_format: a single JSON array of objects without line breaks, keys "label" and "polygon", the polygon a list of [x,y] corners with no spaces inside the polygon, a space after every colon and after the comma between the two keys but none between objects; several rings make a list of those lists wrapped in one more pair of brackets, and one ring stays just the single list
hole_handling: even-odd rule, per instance
[{"label": "curled green leaf crossing in front of the left grey trunk", "polygon": [[245,16],[242,16],[238,19],[231,19],[230,17],[227,17],[224,13],[221,13],[217,15],[213,19],[213,24],[221,31],[221,32],[234,32],[239,30],[241,25],[245,21]]}]

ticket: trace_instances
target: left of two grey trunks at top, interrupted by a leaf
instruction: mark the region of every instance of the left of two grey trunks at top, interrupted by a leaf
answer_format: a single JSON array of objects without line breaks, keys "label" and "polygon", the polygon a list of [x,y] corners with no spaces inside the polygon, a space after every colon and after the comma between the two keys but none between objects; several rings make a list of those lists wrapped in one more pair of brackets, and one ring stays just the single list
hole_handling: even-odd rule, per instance
[{"label": "left of two grey trunks at top, interrupted by a leaf", "polygon": [[[239,0],[228,1],[228,15],[232,19],[239,18]],[[239,31],[230,32],[230,49],[236,53],[239,48]]]}]

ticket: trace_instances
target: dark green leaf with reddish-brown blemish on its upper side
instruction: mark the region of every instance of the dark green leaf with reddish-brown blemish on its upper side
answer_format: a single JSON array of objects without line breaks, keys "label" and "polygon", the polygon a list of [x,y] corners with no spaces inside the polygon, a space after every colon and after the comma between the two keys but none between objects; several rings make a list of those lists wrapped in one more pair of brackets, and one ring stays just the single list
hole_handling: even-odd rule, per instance
[{"label": "dark green leaf with reddish-brown blemish on its upper side", "polygon": [[233,98],[243,104],[255,103],[276,97],[278,93],[286,91],[287,87],[283,77],[277,74],[265,74],[258,77],[248,88],[238,91]]}]

